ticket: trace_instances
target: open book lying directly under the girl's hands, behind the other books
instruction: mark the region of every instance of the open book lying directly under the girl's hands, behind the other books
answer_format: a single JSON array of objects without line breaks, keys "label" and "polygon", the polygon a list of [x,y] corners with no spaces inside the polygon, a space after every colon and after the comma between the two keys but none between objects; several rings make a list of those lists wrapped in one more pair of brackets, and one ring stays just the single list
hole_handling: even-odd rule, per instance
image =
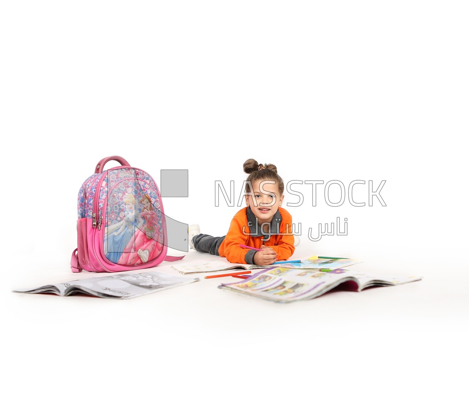
[{"label": "open book lying directly under the girl's hands, behind the other books", "polygon": [[345,266],[354,265],[356,263],[363,262],[360,259],[305,259],[300,263],[289,263],[287,260],[281,264],[275,265],[245,265],[245,264],[233,264],[229,263],[226,260],[213,260],[201,265],[173,265],[171,266],[175,271],[183,274],[187,273],[205,273],[205,272],[218,272],[218,271],[227,271],[229,269],[245,269],[250,271],[252,269],[262,269],[262,268],[271,268],[273,266],[283,266],[294,269],[337,269]]}]

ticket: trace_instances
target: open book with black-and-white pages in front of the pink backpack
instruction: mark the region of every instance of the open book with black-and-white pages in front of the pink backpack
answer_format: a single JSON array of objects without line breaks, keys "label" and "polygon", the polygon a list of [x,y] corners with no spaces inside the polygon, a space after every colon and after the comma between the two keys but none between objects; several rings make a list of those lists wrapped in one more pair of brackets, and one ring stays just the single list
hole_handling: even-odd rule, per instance
[{"label": "open book with black-and-white pages in front of the pink backpack", "polygon": [[120,273],[118,275],[90,277],[77,281],[55,283],[39,288],[18,289],[22,293],[54,293],[70,296],[84,293],[113,299],[129,299],[148,293],[196,282],[199,278],[181,278],[162,272]]}]

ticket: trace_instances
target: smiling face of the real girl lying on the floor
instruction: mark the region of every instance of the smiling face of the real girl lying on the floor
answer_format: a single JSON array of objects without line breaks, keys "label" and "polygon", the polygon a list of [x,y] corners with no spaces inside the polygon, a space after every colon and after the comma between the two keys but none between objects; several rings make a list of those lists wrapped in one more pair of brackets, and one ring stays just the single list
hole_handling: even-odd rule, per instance
[{"label": "smiling face of the real girl lying on the floor", "polygon": [[282,205],[283,195],[280,195],[279,185],[265,181],[252,182],[252,192],[245,195],[246,205],[251,208],[252,213],[261,224],[271,222],[273,216]]}]

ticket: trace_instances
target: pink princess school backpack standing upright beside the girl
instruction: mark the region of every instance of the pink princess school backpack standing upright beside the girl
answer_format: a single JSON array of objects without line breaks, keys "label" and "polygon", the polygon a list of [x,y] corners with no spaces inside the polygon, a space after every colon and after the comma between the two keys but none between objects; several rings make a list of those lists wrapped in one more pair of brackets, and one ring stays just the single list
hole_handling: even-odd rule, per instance
[{"label": "pink princess school backpack standing upright beside the girl", "polygon": [[[106,162],[121,167],[104,171]],[[78,192],[78,248],[72,272],[121,272],[159,265],[166,256],[166,220],[153,178],[122,157],[103,158]]]}]

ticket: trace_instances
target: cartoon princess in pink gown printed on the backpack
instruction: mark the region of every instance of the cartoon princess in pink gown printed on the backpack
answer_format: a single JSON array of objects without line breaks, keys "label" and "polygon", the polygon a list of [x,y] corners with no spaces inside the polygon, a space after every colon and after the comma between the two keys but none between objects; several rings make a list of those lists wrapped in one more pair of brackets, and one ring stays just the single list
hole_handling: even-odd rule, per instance
[{"label": "cartoon princess in pink gown printed on the backpack", "polygon": [[124,248],[119,265],[140,265],[156,258],[163,249],[163,241],[158,229],[158,215],[153,211],[151,199],[148,195],[140,200],[143,211],[140,217],[143,225],[136,229],[134,240],[130,240]]}]

